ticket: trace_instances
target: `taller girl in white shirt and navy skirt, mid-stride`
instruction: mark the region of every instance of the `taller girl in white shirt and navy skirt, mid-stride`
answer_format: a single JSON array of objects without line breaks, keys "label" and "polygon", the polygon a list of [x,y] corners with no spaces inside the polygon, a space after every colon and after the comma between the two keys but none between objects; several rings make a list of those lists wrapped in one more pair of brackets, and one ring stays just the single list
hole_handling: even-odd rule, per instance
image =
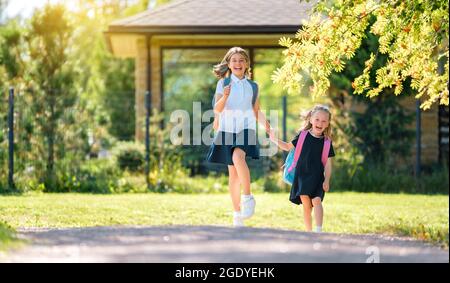
[{"label": "taller girl in white shirt and navy skirt, mid-stride", "polygon": [[[268,133],[271,128],[259,108],[258,86],[249,79],[247,51],[240,47],[231,48],[213,71],[220,79],[214,100],[217,133],[207,160],[228,166],[233,225],[243,226],[243,220],[253,215],[256,204],[250,191],[250,171],[245,158],[259,159],[256,121],[262,123]],[[241,185],[244,190],[242,207]]]}]

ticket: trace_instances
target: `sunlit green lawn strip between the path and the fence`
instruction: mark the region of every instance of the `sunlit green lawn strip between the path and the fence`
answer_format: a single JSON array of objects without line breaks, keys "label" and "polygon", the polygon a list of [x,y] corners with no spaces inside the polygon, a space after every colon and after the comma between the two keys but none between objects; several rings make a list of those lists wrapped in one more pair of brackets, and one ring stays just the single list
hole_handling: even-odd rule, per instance
[{"label": "sunlit green lawn strip between the path and the fence", "polygon": [[[287,193],[255,193],[246,224],[304,230],[301,206]],[[324,201],[324,232],[412,236],[448,247],[449,198],[335,192]],[[0,196],[0,221],[18,227],[230,225],[228,194],[25,194]]]}]

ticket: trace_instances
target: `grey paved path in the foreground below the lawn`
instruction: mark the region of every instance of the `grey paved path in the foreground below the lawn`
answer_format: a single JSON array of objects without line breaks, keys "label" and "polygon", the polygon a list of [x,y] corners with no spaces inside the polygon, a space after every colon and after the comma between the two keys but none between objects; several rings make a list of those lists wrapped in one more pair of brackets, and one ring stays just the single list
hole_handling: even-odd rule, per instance
[{"label": "grey paved path in the foreground below the lawn", "polygon": [[382,235],[223,226],[23,229],[0,262],[449,262],[448,250]]}]

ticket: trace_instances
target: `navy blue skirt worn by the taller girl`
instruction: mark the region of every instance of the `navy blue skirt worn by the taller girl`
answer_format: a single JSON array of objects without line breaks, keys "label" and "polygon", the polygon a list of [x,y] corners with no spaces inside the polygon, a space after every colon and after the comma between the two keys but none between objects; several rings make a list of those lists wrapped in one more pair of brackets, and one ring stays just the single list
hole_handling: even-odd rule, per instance
[{"label": "navy blue skirt worn by the taller girl", "polygon": [[209,148],[206,160],[212,163],[233,164],[233,151],[240,148],[246,157],[259,159],[256,131],[245,129],[239,133],[218,132]]}]

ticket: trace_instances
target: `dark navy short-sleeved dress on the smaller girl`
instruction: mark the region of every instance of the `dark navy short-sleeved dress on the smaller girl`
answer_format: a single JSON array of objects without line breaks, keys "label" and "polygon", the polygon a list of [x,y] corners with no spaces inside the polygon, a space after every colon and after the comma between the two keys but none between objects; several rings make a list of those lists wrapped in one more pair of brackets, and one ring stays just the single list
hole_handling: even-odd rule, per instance
[{"label": "dark navy short-sleeved dress on the smaller girl", "polygon": [[[299,134],[292,140],[297,145]],[[294,182],[292,183],[289,200],[295,204],[301,204],[300,195],[307,195],[311,199],[320,197],[323,201],[325,191],[323,182],[325,180],[324,167],[322,164],[322,149],[325,139],[316,138],[309,132],[303,143],[302,152],[295,168]],[[333,157],[333,143],[330,146],[328,157]]]}]

